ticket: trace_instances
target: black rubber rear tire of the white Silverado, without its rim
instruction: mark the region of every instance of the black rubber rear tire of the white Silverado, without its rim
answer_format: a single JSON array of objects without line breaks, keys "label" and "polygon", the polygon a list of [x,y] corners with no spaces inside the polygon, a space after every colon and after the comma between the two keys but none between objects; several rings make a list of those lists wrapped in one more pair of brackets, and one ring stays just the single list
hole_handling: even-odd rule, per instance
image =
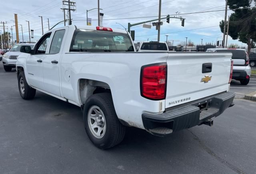
[{"label": "black rubber rear tire of the white Silverado, without its rim", "polygon": [[[88,112],[94,106],[99,107],[104,114],[106,132],[102,138],[94,136],[88,123]],[[83,117],[86,133],[96,147],[100,149],[111,148],[124,139],[126,129],[118,120],[110,93],[98,93],[89,97],[84,105]]]}]

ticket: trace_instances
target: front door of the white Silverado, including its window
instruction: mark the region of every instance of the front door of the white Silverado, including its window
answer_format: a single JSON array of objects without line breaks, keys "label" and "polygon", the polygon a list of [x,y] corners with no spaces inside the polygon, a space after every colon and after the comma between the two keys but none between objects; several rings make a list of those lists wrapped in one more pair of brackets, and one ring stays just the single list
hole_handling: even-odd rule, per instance
[{"label": "front door of the white Silverado, including its window", "polygon": [[51,33],[45,34],[27,59],[27,80],[30,86],[44,90],[43,61],[46,58]]}]

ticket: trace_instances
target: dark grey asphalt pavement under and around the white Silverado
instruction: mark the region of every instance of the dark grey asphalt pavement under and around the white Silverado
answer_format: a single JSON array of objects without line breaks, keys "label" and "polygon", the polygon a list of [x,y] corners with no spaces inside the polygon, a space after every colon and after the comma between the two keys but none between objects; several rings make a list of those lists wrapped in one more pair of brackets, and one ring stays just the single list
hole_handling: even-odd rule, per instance
[{"label": "dark grey asphalt pavement under and around the white Silverado", "polygon": [[99,150],[84,131],[79,107],[40,92],[25,101],[17,85],[15,71],[4,72],[0,62],[0,173],[256,171],[255,102],[235,99],[236,105],[217,117],[213,127],[197,126],[164,138],[128,128],[121,144]]}]

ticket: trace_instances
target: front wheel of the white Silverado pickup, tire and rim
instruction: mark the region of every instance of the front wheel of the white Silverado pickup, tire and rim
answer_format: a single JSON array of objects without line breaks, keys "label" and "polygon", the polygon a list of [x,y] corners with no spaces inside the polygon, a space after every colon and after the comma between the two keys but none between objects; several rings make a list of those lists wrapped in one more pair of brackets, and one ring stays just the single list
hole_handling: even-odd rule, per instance
[{"label": "front wheel of the white Silverado pickup, tire and rim", "polygon": [[30,100],[35,97],[36,89],[33,89],[30,86],[28,86],[24,71],[20,72],[18,75],[18,87],[19,87],[20,96],[22,97],[22,99]]}]

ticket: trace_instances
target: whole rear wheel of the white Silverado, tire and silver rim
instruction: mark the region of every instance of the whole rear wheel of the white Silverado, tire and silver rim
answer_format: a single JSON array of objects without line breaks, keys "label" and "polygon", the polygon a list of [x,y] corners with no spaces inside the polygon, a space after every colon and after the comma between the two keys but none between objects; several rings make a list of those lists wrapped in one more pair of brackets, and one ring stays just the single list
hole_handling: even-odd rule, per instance
[{"label": "whole rear wheel of the white Silverado, tire and silver rim", "polygon": [[119,144],[125,134],[109,93],[94,94],[84,105],[84,128],[92,143],[101,149]]}]

